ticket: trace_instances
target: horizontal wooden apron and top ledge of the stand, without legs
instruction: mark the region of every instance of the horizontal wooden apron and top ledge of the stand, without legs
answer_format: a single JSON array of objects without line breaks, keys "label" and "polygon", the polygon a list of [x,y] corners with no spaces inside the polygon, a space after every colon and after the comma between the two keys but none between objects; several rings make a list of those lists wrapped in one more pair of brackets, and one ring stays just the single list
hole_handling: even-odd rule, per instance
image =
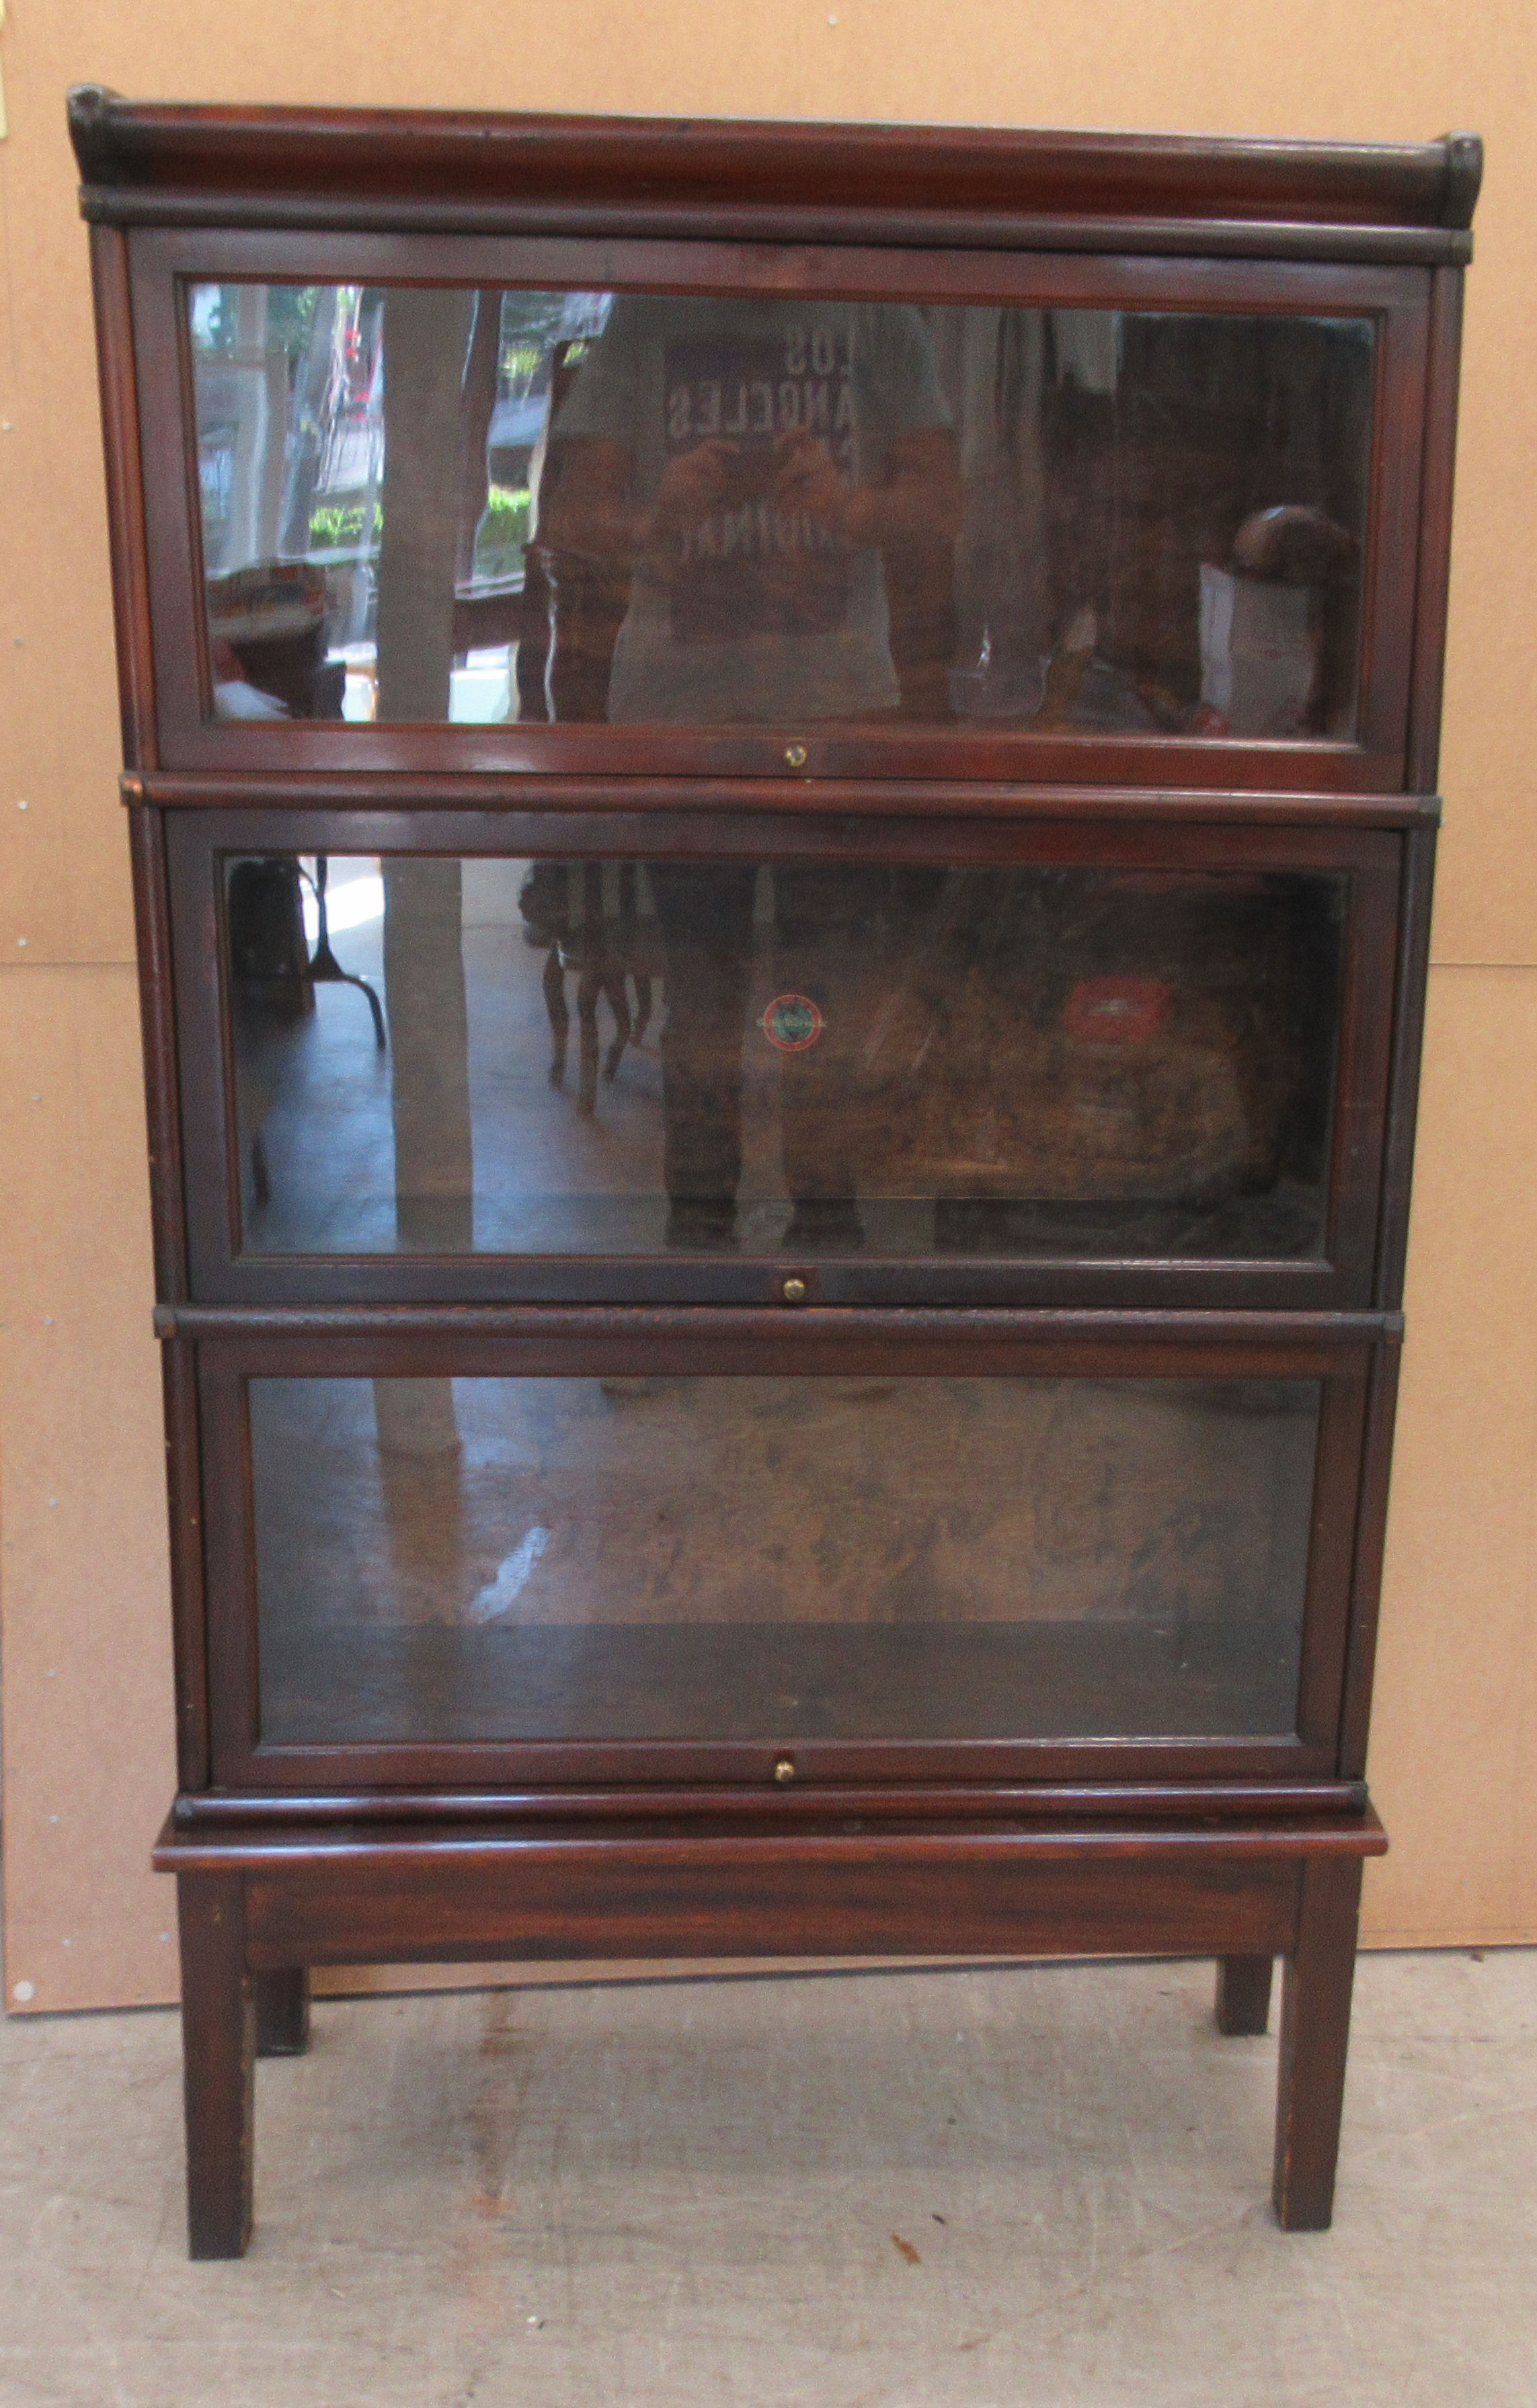
[{"label": "horizontal wooden apron and top ledge of the stand, without legs", "polygon": [[[1308,1869],[1385,1847],[1344,1820],[1161,1830],[841,1818],[754,1832],[537,1823],[475,1835],[188,1837],[161,1871],[243,1890],[246,1965],[636,1955],[1289,1955]],[[1197,1926],[1200,1938],[1190,1926]],[[1188,1931],[1188,1938],[1180,1934]],[[400,1946],[398,1946],[400,1943]]]}]

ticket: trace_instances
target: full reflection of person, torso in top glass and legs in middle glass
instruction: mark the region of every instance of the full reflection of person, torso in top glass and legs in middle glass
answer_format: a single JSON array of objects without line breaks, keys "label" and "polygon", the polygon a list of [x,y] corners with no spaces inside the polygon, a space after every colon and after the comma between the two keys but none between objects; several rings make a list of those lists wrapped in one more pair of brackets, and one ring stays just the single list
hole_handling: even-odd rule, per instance
[{"label": "full reflection of person, torso in top glass and legs in middle glass", "polygon": [[[961,477],[915,308],[622,296],[552,433],[552,559],[629,573],[610,720],[889,720],[947,691]],[[903,643],[913,628],[923,641]],[[841,1125],[870,877],[884,874],[776,872],[781,970],[824,985],[819,1043],[785,1052],[781,1081],[790,1243],[860,1235]],[[754,879],[658,862],[650,881],[670,1240],[728,1243]],[[834,987],[846,1009],[829,1014]]]}]

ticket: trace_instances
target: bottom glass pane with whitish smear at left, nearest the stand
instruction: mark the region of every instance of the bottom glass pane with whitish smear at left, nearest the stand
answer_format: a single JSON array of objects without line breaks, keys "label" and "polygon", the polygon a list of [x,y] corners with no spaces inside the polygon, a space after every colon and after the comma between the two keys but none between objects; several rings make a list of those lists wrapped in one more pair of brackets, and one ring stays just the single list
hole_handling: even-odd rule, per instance
[{"label": "bottom glass pane with whitish smear at left, nearest the stand", "polygon": [[1311,1380],[253,1380],[267,1741],[1296,1729]]}]

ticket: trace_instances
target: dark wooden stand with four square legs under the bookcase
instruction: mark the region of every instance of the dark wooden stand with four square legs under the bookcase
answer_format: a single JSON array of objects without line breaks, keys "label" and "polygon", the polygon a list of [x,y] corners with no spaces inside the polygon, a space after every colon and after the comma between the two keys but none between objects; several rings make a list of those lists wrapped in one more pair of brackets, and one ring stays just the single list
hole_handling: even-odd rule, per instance
[{"label": "dark wooden stand with four square legs under the bookcase", "polygon": [[[188,2230],[251,2232],[253,2059],[299,2054],[308,1965],[723,1955],[1214,1955],[1224,2032],[1286,1960],[1274,2213],[1330,2223],[1361,1859],[1376,1816],[687,1832],[638,1823],[308,1832],[166,1828],[181,1895]],[[1238,1967],[1238,1972],[1233,1970]]]}]

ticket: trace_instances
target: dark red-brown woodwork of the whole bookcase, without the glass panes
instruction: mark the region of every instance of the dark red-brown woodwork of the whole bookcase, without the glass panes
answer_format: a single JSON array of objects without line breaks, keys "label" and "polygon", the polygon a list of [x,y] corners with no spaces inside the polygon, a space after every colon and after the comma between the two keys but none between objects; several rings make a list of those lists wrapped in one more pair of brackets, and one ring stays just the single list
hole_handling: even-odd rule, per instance
[{"label": "dark red-brown woodwork of the whole bookcase, without the glass panes", "polygon": [[[253,2056],[320,1963],[1207,1955],[1274,2208],[1332,2211],[1424,1026],[1462,265],[1482,147],[140,106],[87,87],[164,1336],[193,2256],[251,2230]],[[790,197],[793,195],[793,197]],[[1361,315],[1356,739],[930,725],[214,725],[186,279]],[[790,749],[795,746],[795,754]],[[800,749],[802,746],[802,749]],[[1327,1243],[1298,1262],[243,1252],[229,852],[1212,867],[1344,879]],[[783,1281],[802,1281],[790,1310]],[[1296,1729],[275,1746],[253,1377],[1318,1380]],[[785,1770],[788,1765],[788,1770]]]}]

